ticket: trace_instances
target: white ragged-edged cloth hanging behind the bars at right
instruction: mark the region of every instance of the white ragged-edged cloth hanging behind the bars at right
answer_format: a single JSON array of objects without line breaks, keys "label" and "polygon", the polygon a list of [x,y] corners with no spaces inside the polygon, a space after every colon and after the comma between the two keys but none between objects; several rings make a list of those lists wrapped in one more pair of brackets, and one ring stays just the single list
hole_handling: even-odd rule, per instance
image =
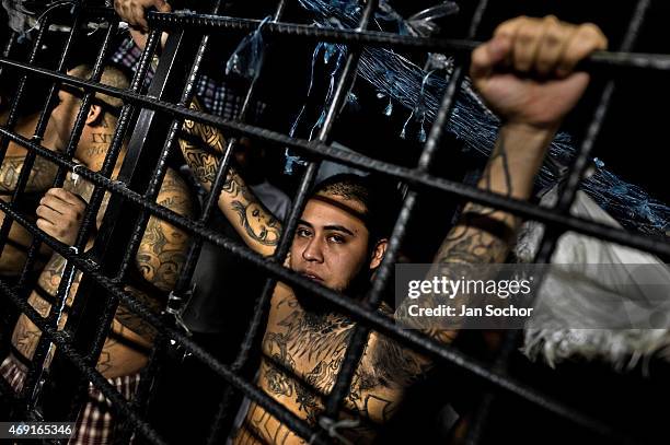
[{"label": "white ragged-edged cloth hanging behind the bars at right", "polygon": [[[541,204],[550,207],[557,199],[557,188],[550,190]],[[607,225],[620,226],[585,192],[579,191],[570,210],[573,215],[582,216]],[[515,248],[517,257],[532,261],[539,248],[544,226],[536,222],[523,225]],[[670,283],[670,270],[654,255],[603,242],[573,232],[561,236],[552,264],[566,265],[565,274],[546,280],[539,292],[533,317],[524,331],[524,352],[530,358],[542,356],[550,365],[570,356],[602,359],[616,368],[635,366],[640,358],[654,354],[670,356],[670,295],[660,301],[648,295],[652,282]],[[620,265],[614,267],[588,267],[585,265]],[[637,265],[655,265],[643,267]],[[636,271],[637,269],[637,271]],[[639,270],[652,270],[640,276]],[[625,281],[639,283],[622,286],[621,271],[628,276]],[[607,271],[616,271],[617,277],[608,277]],[[598,272],[598,273],[597,273]],[[605,297],[607,296],[607,297]],[[649,303],[651,302],[651,303]],[[667,326],[660,329],[617,329],[622,311],[626,314],[649,314],[645,304],[654,305],[654,312],[667,314]],[[629,309],[629,311],[626,311]],[[575,328],[575,320],[581,326],[607,327],[597,329]],[[642,319],[632,320],[642,326]]]}]

